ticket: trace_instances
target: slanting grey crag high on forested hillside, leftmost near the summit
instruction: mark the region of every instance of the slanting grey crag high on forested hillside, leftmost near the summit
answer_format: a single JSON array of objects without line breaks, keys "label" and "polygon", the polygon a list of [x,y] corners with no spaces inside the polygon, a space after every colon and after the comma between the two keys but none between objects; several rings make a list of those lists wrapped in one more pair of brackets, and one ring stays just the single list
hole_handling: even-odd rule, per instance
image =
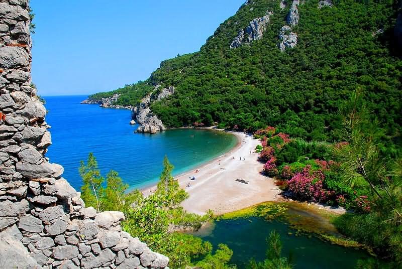
[{"label": "slanting grey crag high on forested hillside, leftmost near the summit", "polygon": [[252,20],[245,29],[240,29],[230,44],[230,48],[239,48],[244,44],[250,45],[253,41],[262,39],[269,24],[270,16],[272,16],[272,12],[267,12],[265,16]]}]

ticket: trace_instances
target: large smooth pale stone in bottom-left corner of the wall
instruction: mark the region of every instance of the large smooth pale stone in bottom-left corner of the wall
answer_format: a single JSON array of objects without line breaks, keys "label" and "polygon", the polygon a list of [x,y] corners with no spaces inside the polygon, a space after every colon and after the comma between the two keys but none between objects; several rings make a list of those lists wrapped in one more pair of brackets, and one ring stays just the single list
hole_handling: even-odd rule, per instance
[{"label": "large smooth pale stone in bottom-left corner of the wall", "polygon": [[0,260],[7,262],[7,268],[39,268],[11,227],[0,232],[0,242]]}]

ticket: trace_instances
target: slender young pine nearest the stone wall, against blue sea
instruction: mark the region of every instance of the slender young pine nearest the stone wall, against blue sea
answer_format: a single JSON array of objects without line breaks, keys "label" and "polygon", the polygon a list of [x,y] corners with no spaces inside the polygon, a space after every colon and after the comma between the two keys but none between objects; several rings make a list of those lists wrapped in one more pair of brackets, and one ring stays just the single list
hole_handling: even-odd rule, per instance
[{"label": "slender young pine nearest the stone wall, against blue sea", "polygon": [[86,165],[84,161],[80,162],[78,169],[79,175],[82,178],[81,198],[85,205],[96,208],[100,212],[100,196],[102,194],[102,183],[104,178],[100,176],[100,171],[97,168],[97,162],[93,153],[89,153]]}]

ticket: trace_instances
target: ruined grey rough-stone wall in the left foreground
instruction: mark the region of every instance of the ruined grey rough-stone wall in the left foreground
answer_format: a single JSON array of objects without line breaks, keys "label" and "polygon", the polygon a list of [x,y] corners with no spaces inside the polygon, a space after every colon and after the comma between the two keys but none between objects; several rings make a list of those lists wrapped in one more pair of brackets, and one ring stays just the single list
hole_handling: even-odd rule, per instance
[{"label": "ruined grey rough-stone wall in the left foreground", "polygon": [[0,0],[0,268],[167,268],[122,231],[122,212],[85,205],[45,157],[46,109],[31,86],[28,0]]}]

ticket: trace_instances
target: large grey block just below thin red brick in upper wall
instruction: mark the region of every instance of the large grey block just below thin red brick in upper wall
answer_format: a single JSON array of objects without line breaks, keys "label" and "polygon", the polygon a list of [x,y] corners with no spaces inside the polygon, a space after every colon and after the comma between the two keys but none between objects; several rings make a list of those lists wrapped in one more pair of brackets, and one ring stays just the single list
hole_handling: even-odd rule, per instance
[{"label": "large grey block just below thin red brick in upper wall", "polygon": [[[0,3],[0,13],[3,3]],[[1,15],[0,15],[1,17]],[[29,65],[29,55],[21,47],[0,47],[0,68],[13,69]]]}]

